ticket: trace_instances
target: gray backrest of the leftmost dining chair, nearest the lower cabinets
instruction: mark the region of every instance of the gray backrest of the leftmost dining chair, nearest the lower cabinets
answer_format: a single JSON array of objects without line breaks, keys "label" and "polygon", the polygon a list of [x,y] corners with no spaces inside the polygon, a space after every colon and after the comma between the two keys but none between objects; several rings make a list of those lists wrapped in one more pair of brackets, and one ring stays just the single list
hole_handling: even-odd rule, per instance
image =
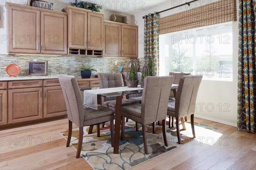
[{"label": "gray backrest of the leftmost dining chair, nearest the lower cabinets", "polygon": [[77,126],[82,127],[84,123],[84,106],[76,79],[59,77],[59,82],[66,102],[68,119]]}]

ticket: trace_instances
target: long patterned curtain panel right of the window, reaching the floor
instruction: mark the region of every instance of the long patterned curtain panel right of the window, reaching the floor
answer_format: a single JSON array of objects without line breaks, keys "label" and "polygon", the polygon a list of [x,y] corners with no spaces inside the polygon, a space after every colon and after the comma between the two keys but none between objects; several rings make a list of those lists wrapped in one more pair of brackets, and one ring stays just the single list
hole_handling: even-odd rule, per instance
[{"label": "long patterned curtain panel right of the window, reaching the floor", "polygon": [[256,0],[239,0],[238,120],[239,130],[256,131]]}]

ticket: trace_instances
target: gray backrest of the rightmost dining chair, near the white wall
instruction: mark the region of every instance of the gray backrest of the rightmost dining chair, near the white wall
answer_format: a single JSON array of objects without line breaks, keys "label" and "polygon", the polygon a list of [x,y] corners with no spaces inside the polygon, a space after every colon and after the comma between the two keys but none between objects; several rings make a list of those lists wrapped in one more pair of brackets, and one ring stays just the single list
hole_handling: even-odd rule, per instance
[{"label": "gray backrest of the rightmost dining chair, near the white wall", "polygon": [[202,76],[182,76],[175,98],[175,115],[177,118],[195,113],[196,97]]}]

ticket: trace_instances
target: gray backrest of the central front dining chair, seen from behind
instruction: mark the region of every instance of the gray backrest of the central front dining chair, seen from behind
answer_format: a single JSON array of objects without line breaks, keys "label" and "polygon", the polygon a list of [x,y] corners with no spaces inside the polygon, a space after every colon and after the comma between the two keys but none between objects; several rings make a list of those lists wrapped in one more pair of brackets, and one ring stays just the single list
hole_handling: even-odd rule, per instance
[{"label": "gray backrest of the central front dining chair, seen from behind", "polygon": [[173,76],[145,77],[141,101],[142,123],[166,119]]}]

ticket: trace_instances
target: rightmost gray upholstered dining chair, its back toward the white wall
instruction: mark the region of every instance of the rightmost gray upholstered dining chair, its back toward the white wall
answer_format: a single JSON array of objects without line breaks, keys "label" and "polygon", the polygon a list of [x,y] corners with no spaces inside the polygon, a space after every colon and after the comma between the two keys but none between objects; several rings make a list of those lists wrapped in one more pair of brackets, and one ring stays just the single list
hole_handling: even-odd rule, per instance
[{"label": "rightmost gray upholstered dining chair, its back toward the white wall", "polygon": [[[202,76],[182,76],[175,101],[168,103],[167,115],[176,118],[176,130],[178,142],[180,144],[180,127],[179,119],[191,115],[191,127],[193,137],[195,138],[194,113],[195,102]],[[173,120],[172,120],[173,121]],[[173,125],[173,122],[172,122]],[[185,126],[185,125],[183,125]]]}]

